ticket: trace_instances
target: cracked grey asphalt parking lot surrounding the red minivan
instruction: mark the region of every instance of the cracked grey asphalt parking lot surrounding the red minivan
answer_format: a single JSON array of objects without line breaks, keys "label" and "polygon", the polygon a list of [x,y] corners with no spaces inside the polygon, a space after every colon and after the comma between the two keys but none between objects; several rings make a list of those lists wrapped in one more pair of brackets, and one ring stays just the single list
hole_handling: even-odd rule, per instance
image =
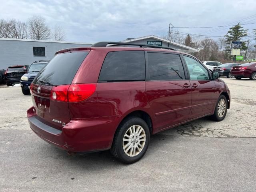
[{"label": "cracked grey asphalt parking lot surrounding the red minivan", "polygon": [[125,165],[108,151],[68,156],[30,130],[30,96],[0,86],[0,191],[256,191],[256,81],[222,78],[226,118],[209,118],[151,137]]}]

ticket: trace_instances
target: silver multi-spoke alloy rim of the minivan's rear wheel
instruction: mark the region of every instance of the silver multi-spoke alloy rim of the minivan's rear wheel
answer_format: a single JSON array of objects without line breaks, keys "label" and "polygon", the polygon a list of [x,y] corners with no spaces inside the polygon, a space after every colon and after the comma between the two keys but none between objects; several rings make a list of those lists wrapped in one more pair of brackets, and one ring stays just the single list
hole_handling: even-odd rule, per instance
[{"label": "silver multi-spoke alloy rim of the minivan's rear wheel", "polygon": [[128,128],[123,138],[123,150],[129,157],[140,154],[146,143],[145,130],[140,125],[133,125]]}]

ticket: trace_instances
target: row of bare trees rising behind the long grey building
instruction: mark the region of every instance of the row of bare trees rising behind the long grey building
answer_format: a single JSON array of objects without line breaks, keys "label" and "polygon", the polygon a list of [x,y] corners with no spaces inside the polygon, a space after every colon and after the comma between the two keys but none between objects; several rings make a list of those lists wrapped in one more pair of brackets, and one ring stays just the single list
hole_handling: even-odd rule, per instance
[{"label": "row of bare trees rising behind the long grey building", "polygon": [[42,16],[32,16],[26,22],[18,19],[0,19],[0,38],[66,40],[66,33],[57,24],[50,28]]}]

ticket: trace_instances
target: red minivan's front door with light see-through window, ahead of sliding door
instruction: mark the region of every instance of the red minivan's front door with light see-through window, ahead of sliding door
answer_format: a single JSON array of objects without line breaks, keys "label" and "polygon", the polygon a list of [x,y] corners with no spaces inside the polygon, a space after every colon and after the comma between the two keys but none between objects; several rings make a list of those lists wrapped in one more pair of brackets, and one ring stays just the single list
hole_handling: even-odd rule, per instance
[{"label": "red minivan's front door with light see-through window, ahead of sliding door", "polygon": [[217,100],[217,89],[211,80],[208,70],[196,59],[183,55],[189,69],[192,86],[192,104],[190,119],[198,118],[213,112]]}]

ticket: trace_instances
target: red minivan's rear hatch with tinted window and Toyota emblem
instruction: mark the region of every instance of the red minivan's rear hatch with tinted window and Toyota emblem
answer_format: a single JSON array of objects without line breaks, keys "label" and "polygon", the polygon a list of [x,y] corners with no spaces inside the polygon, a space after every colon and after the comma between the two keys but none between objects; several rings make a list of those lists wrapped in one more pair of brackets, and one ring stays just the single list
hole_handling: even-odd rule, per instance
[{"label": "red minivan's rear hatch with tinted window and Toyota emblem", "polygon": [[[70,121],[68,102],[52,98],[52,90],[68,90],[78,68],[88,52],[68,52],[57,54],[33,80],[32,102],[36,118],[57,129],[62,129]],[[54,86],[53,86],[54,85]]]}]

